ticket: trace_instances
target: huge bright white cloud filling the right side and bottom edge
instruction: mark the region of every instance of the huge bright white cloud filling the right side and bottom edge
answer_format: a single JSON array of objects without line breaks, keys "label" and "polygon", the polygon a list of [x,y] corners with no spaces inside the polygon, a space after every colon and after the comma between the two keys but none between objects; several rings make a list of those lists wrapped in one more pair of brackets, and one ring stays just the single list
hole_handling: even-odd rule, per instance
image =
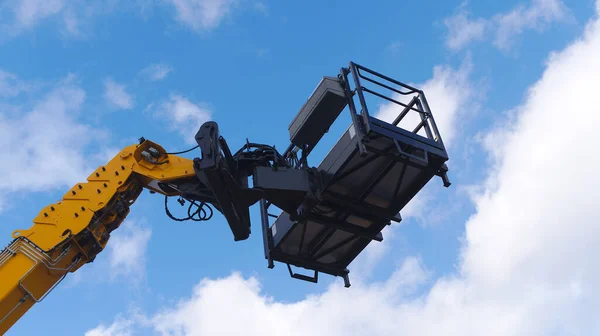
[{"label": "huge bright white cloud filling the right side and bottom edge", "polygon": [[600,334],[598,54],[594,21],[551,55],[514,123],[493,131],[493,183],[474,199],[456,274],[433,279],[409,258],[385,282],[338,283],[296,302],[261,294],[255,279],[234,274],[203,280],[149,320],[163,335]]}]

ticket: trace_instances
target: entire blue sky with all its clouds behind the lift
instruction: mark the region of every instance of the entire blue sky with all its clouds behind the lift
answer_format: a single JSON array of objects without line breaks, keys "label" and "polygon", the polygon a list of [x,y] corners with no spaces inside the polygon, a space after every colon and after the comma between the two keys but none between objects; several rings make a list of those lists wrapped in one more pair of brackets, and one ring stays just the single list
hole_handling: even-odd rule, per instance
[{"label": "entire blue sky with all its clouds behind the lift", "polygon": [[222,216],[173,222],[145,192],[107,250],[9,334],[593,334],[599,12],[592,0],[0,2],[5,244],[141,136],[187,149],[215,120],[232,148],[287,147],[304,100],[349,61],[424,89],[453,182],[407,206],[351,265],[350,289],[269,270],[258,209],[234,243]]}]

